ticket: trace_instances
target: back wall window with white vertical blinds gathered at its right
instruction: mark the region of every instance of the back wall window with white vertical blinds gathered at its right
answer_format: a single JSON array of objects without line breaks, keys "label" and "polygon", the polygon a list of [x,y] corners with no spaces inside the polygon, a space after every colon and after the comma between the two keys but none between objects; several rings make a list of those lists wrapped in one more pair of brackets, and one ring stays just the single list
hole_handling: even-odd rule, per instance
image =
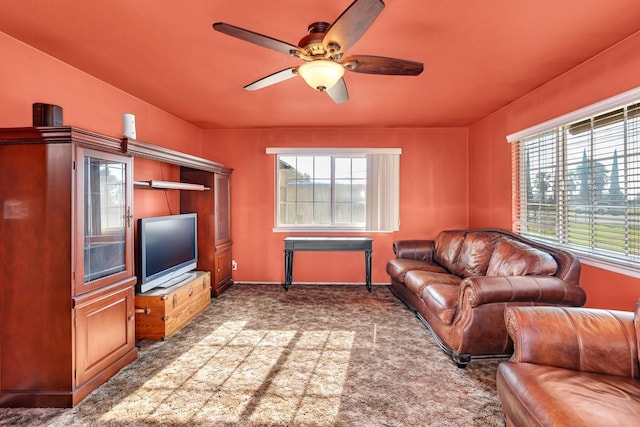
[{"label": "back wall window with white vertical blinds gathered at its right", "polygon": [[399,149],[268,148],[276,229],[398,230]]}]

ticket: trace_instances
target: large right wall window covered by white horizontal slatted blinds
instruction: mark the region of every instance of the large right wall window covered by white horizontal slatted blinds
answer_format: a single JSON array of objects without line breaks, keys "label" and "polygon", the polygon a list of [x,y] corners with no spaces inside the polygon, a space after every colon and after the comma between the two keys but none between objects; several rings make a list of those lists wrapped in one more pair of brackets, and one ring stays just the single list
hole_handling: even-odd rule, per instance
[{"label": "large right wall window covered by white horizontal slatted blinds", "polygon": [[606,109],[588,107],[591,114],[584,109],[508,138],[514,142],[514,229],[566,247],[587,263],[636,275],[640,91],[621,98],[627,102],[616,97]]}]

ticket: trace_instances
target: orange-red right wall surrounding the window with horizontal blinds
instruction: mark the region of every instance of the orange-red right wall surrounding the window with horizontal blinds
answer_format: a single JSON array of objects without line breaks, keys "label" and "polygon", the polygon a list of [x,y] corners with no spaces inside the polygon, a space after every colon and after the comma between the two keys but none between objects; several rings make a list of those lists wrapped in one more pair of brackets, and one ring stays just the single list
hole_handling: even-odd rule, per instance
[{"label": "orange-red right wall surrounding the window with horizontal blinds", "polygon": [[[640,33],[469,128],[469,224],[511,228],[511,155],[506,136],[640,86]],[[640,280],[583,266],[589,307],[633,310]]]}]

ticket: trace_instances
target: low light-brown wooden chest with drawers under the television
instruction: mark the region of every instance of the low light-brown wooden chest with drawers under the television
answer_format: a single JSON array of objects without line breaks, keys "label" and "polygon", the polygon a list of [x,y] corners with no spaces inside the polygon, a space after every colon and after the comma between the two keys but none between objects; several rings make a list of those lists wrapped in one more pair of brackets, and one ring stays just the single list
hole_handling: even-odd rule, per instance
[{"label": "low light-brown wooden chest with drawers under the television", "polygon": [[211,274],[196,272],[186,283],[136,295],[136,339],[164,340],[211,304]]}]

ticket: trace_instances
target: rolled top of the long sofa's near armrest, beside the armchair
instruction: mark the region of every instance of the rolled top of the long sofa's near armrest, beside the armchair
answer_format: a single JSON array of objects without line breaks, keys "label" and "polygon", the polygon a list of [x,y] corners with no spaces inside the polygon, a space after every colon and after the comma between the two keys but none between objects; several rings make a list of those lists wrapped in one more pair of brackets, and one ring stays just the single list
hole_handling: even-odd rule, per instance
[{"label": "rolled top of the long sofa's near armrest, beside the armchair", "polygon": [[499,302],[579,307],[587,300],[584,289],[555,276],[474,276],[460,288],[472,307]]}]

